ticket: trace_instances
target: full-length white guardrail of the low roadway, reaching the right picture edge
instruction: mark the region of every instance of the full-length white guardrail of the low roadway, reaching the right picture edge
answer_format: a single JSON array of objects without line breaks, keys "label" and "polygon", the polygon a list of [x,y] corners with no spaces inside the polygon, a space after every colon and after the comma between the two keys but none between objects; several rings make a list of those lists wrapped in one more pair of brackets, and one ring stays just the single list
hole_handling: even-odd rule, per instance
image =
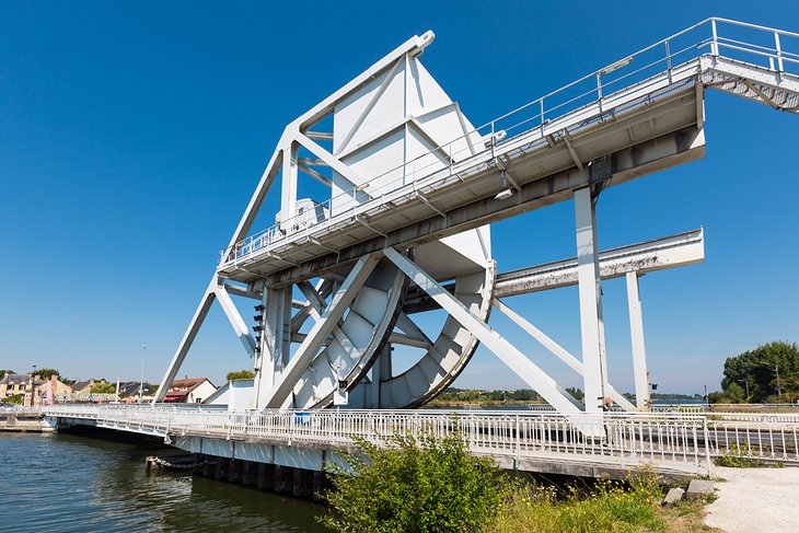
[{"label": "full-length white guardrail of the low roadway, reaching the right picture edge", "polygon": [[523,459],[558,456],[682,463],[706,473],[710,459],[732,455],[799,464],[799,416],[757,413],[569,414],[474,410],[227,412],[183,405],[57,405],[45,416],[96,420],[103,427],[167,436],[271,439],[340,447],[396,432],[460,434],[474,453]]}]

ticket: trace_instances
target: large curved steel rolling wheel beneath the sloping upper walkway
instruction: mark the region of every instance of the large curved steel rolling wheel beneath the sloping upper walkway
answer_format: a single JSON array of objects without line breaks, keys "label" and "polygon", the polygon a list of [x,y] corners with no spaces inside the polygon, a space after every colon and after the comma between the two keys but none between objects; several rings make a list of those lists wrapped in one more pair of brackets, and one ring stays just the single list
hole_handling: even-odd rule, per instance
[{"label": "large curved steel rolling wheel beneath the sloping upper walkway", "polygon": [[[465,233],[467,242],[470,233],[477,236],[477,232]],[[442,255],[459,254],[459,247],[463,250],[463,243],[454,250],[437,247],[436,260],[447,264],[448,257]],[[467,247],[475,250],[471,245]],[[429,250],[419,252],[430,253]],[[463,256],[458,255],[458,258]],[[453,287],[454,296],[470,311],[488,321],[496,267],[487,258],[482,263],[482,267],[471,263],[471,271],[456,275]],[[479,341],[449,315],[435,340],[428,337],[417,325],[417,322],[425,322],[425,313],[417,314],[414,311],[418,310],[406,305],[408,285],[397,267],[382,259],[358,290],[324,347],[301,374],[283,406],[325,407],[333,404],[335,391],[344,387],[349,391],[347,405],[351,408],[413,408],[431,401],[449,386],[472,358]],[[320,287],[322,289],[316,292],[308,282],[300,286],[308,302],[292,320],[294,341],[304,339],[298,331],[306,317],[319,320],[327,305],[324,299],[334,292],[335,283],[327,280]],[[396,374],[392,368],[399,364],[392,361],[393,344],[421,349],[418,360]]]}]

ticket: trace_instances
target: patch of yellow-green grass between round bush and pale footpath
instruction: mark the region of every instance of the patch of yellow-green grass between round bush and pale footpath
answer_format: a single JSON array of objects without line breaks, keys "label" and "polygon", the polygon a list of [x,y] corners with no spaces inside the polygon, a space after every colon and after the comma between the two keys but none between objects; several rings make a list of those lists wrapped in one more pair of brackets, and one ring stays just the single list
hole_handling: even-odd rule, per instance
[{"label": "patch of yellow-green grass between round bush and pale footpath", "polygon": [[715,531],[702,523],[703,502],[662,508],[663,489],[655,474],[634,474],[627,483],[600,480],[591,489],[520,485],[486,531],[496,533],[588,533]]}]

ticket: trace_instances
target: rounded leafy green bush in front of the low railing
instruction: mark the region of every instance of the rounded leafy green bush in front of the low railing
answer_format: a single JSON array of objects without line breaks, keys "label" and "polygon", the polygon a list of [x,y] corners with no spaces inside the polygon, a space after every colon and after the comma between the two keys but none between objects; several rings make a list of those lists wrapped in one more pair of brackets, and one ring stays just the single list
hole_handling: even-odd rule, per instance
[{"label": "rounded leafy green bush in front of the low railing", "polygon": [[356,439],[331,466],[331,512],[319,520],[340,532],[478,532],[505,499],[505,476],[475,457],[458,436],[395,434],[382,445]]}]

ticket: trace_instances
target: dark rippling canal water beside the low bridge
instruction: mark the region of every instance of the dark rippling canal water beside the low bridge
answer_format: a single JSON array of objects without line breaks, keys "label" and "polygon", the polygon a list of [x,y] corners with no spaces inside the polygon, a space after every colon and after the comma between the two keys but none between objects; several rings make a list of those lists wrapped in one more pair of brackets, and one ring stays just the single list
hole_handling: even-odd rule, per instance
[{"label": "dark rippling canal water beside the low bridge", "polygon": [[147,473],[147,455],[170,451],[0,432],[0,515],[20,532],[326,531],[314,520],[325,509],[313,502],[182,472]]}]

